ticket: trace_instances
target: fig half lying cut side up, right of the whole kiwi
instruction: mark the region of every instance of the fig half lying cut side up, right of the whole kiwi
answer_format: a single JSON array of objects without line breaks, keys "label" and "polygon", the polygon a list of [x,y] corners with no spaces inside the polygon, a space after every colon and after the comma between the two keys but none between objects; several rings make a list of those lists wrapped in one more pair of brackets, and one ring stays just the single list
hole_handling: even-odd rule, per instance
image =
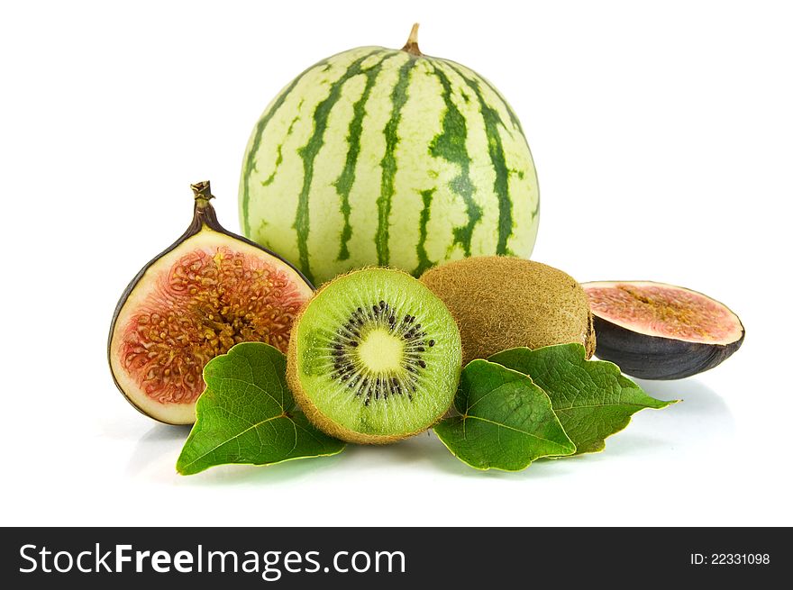
[{"label": "fig half lying cut side up, right of the whole kiwi", "polygon": [[595,320],[597,358],[633,377],[690,377],[741,348],[744,331],[738,316],[696,291],[650,281],[581,286]]}]

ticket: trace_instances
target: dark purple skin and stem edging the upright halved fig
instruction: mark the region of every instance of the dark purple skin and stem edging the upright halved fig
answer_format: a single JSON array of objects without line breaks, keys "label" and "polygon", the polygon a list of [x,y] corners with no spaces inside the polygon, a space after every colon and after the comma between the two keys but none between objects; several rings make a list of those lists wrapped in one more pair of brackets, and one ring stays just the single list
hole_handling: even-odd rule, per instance
[{"label": "dark purple skin and stem edging the upright halved fig", "polygon": [[113,320],[110,322],[110,331],[107,334],[107,365],[110,368],[110,375],[113,377],[113,382],[116,388],[124,396],[124,399],[127,402],[129,402],[132,405],[132,407],[135,408],[138,412],[142,413],[144,416],[149,416],[151,419],[156,420],[157,422],[162,422],[163,424],[170,424],[172,426],[184,426],[185,424],[182,422],[168,422],[167,420],[163,420],[162,418],[157,418],[155,416],[150,415],[149,413],[144,412],[141,409],[141,407],[139,407],[138,404],[135,404],[132,398],[130,398],[130,396],[126,394],[121,384],[119,384],[118,380],[115,378],[115,373],[113,370],[113,364],[111,360],[113,357],[113,348],[111,346],[113,343],[113,332],[115,331],[115,324],[116,322],[118,322],[118,316],[121,313],[124,304],[126,304],[127,299],[132,294],[132,291],[135,290],[135,287],[138,286],[138,283],[141,281],[143,275],[146,274],[146,271],[149,270],[149,268],[151,268],[153,264],[155,264],[159,259],[161,259],[169,252],[176,250],[188,238],[192,238],[196,234],[200,233],[206,227],[212,231],[216,231],[217,233],[222,233],[223,235],[228,236],[229,238],[232,238],[235,241],[242,241],[248,244],[249,246],[253,246],[257,250],[262,250],[268,253],[270,256],[272,256],[275,259],[281,260],[288,267],[295,270],[297,275],[305,281],[305,284],[307,286],[311,287],[312,289],[314,288],[311,282],[307,278],[305,278],[303,273],[300,272],[300,270],[298,270],[296,266],[291,264],[288,260],[285,260],[280,256],[278,256],[278,254],[276,254],[275,252],[260,246],[260,244],[257,244],[255,241],[250,241],[247,238],[243,238],[242,236],[239,236],[236,233],[232,233],[231,231],[226,230],[220,224],[220,222],[217,221],[217,214],[214,212],[214,207],[212,206],[212,204],[209,203],[209,200],[213,199],[214,196],[212,195],[208,180],[197,182],[195,185],[190,185],[190,187],[193,189],[193,195],[195,198],[195,204],[193,205],[193,219],[190,222],[190,225],[188,225],[187,230],[185,230],[185,232],[178,237],[177,241],[173,242],[165,250],[162,250],[160,254],[155,256],[153,259],[150,259],[149,262],[147,262],[146,265],[143,268],[141,268],[140,271],[138,271],[138,274],[132,277],[130,284],[126,286],[126,288],[123,290],[123,293],[121,294],[121,297],[119,297],[118,299],[118,303],[115,304]]}]

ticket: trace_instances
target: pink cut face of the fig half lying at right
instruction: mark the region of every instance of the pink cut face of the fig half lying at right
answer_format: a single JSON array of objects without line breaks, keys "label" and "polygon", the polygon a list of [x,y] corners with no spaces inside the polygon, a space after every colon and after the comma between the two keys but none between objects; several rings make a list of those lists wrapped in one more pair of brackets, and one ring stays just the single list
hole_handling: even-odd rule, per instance
[{"label": "pink cut face of the fig half lying at right", "polygon": [[707,344],[728,344],[743,333],[725,305],[682,287],[649,282],[583,287],[592,313],[632,331]]}]

